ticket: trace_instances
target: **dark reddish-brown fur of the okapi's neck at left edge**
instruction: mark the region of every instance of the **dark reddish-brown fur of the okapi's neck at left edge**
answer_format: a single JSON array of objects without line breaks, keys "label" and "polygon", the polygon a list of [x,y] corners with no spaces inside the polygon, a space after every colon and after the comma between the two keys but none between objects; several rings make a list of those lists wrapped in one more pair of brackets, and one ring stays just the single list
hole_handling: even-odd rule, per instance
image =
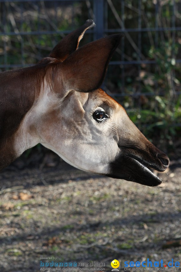
[{"label": "dark reddish-brown fur of the okapi's neck at left edge", "polygon": [[0,169],[16,158],[14,133],[39,95],[45,70],[36,65],[0,74]]}]

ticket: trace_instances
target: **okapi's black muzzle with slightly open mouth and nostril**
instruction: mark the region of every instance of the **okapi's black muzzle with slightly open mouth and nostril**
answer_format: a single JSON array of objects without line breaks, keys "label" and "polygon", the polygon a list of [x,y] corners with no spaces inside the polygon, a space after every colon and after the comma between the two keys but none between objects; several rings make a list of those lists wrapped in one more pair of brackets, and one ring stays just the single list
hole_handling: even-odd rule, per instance
[{"label": "okapi's black muzzle with slightly open mouth and nostril", "polygon": [[[120,148],[120,154],[114,162],[110,164],[110,173],[106,176],[125,179],[147,186],[158,186],[161,179],[151,170],[163,172],[169,166],[169,158],[162,151],[154,148],[150,154],[145,150],[132,148]],[[153,151],[153,149],[152,149]]]}]

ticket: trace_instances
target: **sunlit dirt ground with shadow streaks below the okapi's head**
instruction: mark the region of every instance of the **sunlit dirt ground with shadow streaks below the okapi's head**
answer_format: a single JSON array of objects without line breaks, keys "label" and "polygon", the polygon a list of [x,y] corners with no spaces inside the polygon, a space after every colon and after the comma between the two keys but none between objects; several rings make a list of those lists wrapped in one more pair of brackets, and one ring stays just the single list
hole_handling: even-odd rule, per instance
[{"label": "sunlit dirt ground with shadow streaks below the okapi's head", "polygon": [[105,271],[114,259],[119,271],[147,258],[181,267],[181,160],[159,176],[162,185],[151,188],[77,170],[51,153],[28,167],[20,158],[0,175],[0,271],[41,271],[42,257],[102,262]]}]

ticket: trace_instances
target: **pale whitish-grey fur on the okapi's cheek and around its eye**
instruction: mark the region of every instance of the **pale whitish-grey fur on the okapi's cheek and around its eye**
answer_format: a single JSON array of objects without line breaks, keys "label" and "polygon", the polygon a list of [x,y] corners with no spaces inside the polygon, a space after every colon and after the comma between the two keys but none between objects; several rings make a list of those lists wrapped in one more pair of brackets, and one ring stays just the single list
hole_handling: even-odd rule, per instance
[{"label": "pale whitish-grey fur on the okapi's cheek and around its eye", "polygon": [[[62,100],[49,92],[48,85],[46,91],[45,84],[43,86],[39,100],[27,113],[17,132],[21,134],[21,137],[16,137],[21,141],[15,142],[18,155],[41,143],[74,167],[108,173],[109,162],[119,152],[119,136],[111,118],[114,109],[101,105],[101,93],[97,91],[72,91]],[[101,123],[93,118],[94,111],[98,109],[109,115]]]}]

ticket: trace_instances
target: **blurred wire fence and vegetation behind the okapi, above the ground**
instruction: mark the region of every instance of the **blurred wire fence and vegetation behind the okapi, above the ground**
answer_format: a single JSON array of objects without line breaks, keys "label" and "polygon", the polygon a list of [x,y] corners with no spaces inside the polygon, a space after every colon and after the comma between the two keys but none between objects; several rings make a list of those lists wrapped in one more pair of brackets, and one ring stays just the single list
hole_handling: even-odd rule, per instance
[{"label": "blurred wire fence and vegetation behind the okapi, above the ground", "polygon": [[37,63],[89,18],[96,28],[85,33],[80,46],[124,33],[103,89],[150,141],[171,158],[181,156],[179,0],[1,0],[0,16],[1,71]]}]

